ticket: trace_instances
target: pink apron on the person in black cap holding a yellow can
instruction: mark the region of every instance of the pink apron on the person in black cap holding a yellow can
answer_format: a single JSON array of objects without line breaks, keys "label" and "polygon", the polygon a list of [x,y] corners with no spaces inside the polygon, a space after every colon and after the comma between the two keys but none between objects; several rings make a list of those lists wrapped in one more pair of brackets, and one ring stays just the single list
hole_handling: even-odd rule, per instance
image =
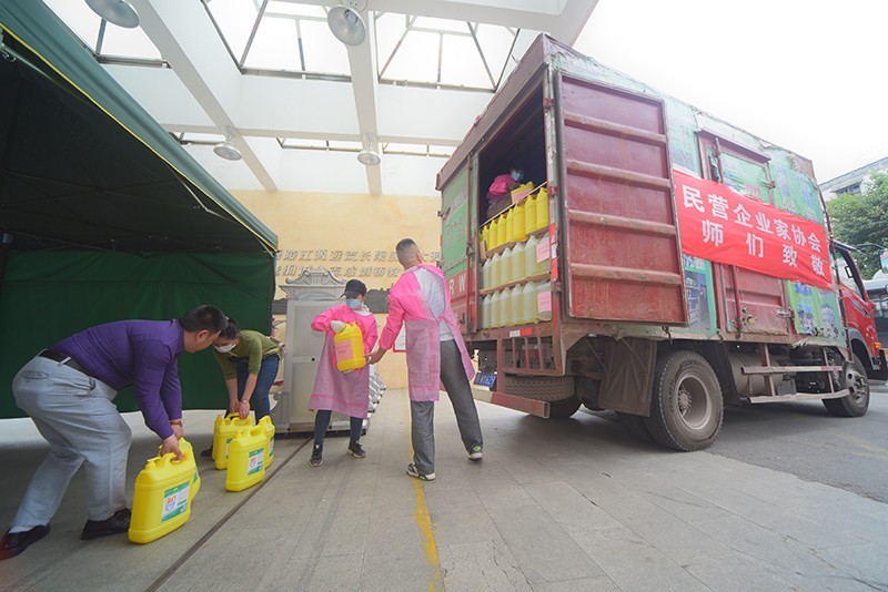
[{"label": "pink apron on the person in black cap holding a yellow can", "polygon": [[314,378],[314,388],[309,399],[309,410],[329,409],[349,417],[367,417],[370,409],[370,368],[367,366],[351,372],[336,369],[336,355],[333,346],[334,333],[331,320],[356,323],[364,338],[364,353],[370,354],[376,344],[376,318],[373,315],[359,315],[346,305],[327,308],[312,320],[312,329],[325,331],[324,349]]}]

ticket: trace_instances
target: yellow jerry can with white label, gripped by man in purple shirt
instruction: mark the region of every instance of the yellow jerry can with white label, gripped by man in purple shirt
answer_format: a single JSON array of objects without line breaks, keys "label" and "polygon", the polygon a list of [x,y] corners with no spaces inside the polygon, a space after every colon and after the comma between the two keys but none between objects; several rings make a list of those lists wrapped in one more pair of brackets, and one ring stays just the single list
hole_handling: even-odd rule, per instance
[{"label": "yellow jerry can with white label, gripped by man in purple shirt", "polygon": [[132,542],[149,543],[160,539],[191,517],[198,467],[194,451],[181,445],[180,448],[184,458],[175,460],[172,452],[150,458],[135,478],[129,531]]}]

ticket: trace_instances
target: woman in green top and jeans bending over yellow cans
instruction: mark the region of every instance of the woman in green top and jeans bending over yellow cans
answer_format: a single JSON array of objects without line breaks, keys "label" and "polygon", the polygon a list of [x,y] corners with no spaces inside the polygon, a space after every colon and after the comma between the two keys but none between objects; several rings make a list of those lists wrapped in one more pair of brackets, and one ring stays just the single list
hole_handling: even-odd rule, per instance
[{"label": "woman in green top and jeans bending over yellow cans", "polygon": [[229,412],[241,418],[256,412],[256,422],[269,415],[269,390],[278,377],[281,347],[271,337],[249,329],[241,330],[233,318],[213,343],[213,355],[229,388]]}]

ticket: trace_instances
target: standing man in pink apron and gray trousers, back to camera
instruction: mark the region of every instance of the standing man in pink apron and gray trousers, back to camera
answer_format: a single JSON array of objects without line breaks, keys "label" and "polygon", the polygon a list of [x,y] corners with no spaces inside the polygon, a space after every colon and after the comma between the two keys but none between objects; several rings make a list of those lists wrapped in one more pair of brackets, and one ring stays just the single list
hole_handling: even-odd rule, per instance
[{"label": "standing man in pink apron and gray trousers, back to camera", "polygon": [[407,388],[410,390],[413,462],[407,474],[421,481],[435,479],[435,401],[440,385],[453,404],[456,425],[470,460],[481,460],[484,442],[468,380],[475,369],[460,334],[444,274],[423,263],[420,247],[404,238],[395,247],[404,273],[389,293],[389,319],[379,348],[370,355],[376,364],[406,328]]}]

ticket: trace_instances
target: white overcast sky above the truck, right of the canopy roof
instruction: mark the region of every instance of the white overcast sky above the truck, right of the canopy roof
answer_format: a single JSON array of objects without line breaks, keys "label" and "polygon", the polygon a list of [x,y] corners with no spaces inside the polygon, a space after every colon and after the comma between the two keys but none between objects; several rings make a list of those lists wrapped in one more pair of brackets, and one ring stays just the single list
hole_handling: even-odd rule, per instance
[{"label": "white overcast sky above the truck, right of the canopy roof", "polygon": [[599,0],[575,48],[814,161],[888,156],[888,1]]}]

